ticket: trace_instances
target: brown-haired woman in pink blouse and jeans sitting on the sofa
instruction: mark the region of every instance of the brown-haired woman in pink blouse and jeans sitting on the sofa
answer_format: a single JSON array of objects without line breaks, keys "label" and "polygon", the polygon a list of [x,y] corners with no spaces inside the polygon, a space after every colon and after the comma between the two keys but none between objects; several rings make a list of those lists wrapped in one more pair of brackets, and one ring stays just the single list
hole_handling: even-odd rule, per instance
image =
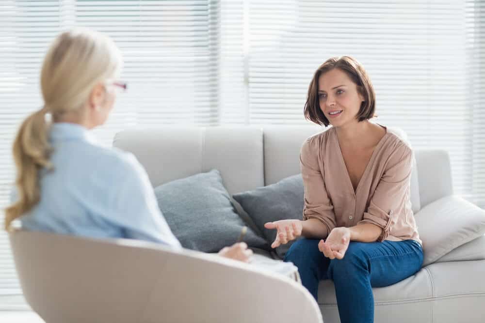
[{"label": "brown-haired woman in pink blouse and jeans sitting on the sofa", "polygon": [[288,251],[317,299],[332,279],[341,323],[374,320],[372,287],[415,274],[423,252],[410,201],[413,152],[385,126],[371,123],[375,93],[363,66],[332,58],[315,72],[305,116],[329,130],[308,138],[300,164],[303,220],[267,223],[273,247],[303,235]]}]

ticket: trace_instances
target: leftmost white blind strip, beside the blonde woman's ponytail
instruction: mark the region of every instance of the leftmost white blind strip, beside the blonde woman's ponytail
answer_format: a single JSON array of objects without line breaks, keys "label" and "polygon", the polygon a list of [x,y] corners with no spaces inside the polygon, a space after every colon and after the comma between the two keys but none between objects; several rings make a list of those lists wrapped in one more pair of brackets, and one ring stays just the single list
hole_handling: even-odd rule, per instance
[{"label": "leftmost white blind strip, beside the blonde woman's ponytail", "polygon": [[61,1],[0,2],[0,310],[26,309],[3,231],[3,208],[14,179],[12,141],[20,120],[40,108],[39,66],[65,27]]}]

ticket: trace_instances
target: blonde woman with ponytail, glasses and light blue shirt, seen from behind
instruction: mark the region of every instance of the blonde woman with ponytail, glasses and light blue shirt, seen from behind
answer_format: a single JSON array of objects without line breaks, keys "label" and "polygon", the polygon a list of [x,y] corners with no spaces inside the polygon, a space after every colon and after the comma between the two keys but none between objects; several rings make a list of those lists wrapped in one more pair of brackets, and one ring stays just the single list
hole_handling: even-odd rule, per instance
[{"label": "blonde woman with ponytail, glasses and light blue shirt, seen from behind", "polygon": [[[93,238],[130,238],[181,249],[145,169],[132,154],[97,144],[89,132],[107,120],[122,58],[107,36],[86,29],[60,34],[41,72],[44,107],[20,126],[14,142],[17,196],[5,226]],[[46,121],[51,116],[52,123]],[[221,256],[248,261],[244,243]]]}]

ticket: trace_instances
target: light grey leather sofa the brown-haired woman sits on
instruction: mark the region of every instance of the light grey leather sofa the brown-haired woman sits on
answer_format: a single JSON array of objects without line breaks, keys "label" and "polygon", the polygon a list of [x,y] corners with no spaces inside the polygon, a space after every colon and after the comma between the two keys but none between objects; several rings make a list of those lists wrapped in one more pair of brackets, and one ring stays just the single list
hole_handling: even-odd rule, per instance
[{"label": "light grey leather sofa the brown-haired woman sits on", "polygon": [[[264,128],[164,126],[123,131],[115,136],[113,145],[135,154],[154,186],[215,168],[221,172],[229,193],[234,194],[298,174],[303,141],[322,130],[316,126],[278,125]],[[470,208],[468,202],[452,196],[446,152],[418,150],[415,156],[411,199],[418,225],[423,223],[424,227],[426,223],[420,219],[420,211],[425,214],[436,207],[439,209],[440,205],[449,205],[459,217],[460,210]],[[427,206],[430,206],[428,211]],[[439,215],[433,216],[439,219]],[[428,227],[423,230],[428,232]],[[436,231],[446,228],[453,228],[453,223],[436,221]],[[439,246],[436,248],[439,252]],[[269,252],[266,255],[274,257]],[[425,252],[425,261],[426,256]],[[267,287],[261,285],[264,288]],[[483,323],[485,236],[443,255],[416,275],[392,286],[375,288],[373,292],[376,323]],[[339,322],[330,280],[321,282],[318,304],[325,323]]]}]

